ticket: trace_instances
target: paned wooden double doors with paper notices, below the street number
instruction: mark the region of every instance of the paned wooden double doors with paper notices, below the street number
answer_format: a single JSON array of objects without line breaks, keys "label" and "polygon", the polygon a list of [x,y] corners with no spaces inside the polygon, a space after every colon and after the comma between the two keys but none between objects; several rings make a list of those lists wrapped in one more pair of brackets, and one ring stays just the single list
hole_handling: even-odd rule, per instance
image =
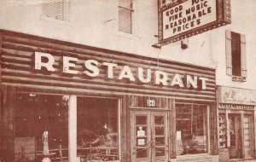
[{"label": "paned wooden double doors with paper notices, below the street number", "polygon": [[131,161],[167,161],[167,113],[131,112]]}]

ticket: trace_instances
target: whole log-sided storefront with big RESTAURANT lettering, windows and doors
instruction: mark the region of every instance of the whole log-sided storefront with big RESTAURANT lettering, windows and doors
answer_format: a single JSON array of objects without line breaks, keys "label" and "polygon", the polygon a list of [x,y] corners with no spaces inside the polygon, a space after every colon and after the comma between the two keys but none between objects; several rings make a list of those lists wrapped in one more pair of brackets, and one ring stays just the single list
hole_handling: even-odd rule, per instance
[{"label": "whole log-sided storefront with big RESTAURANT lettering, windows and doors", "polygon": [[0,32],[0,157],[218,161],[215,69]]}]

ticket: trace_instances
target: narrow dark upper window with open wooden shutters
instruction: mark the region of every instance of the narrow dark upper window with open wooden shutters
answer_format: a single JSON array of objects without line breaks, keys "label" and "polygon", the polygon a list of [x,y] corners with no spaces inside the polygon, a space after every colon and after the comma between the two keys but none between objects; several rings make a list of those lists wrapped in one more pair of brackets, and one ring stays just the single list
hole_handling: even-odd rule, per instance
[{"label": "narrow dark upper window with open wooden shutters", "polygon": [[247,77],[245,35],[226,31],[227,75],[233,81],[245,81]]}]

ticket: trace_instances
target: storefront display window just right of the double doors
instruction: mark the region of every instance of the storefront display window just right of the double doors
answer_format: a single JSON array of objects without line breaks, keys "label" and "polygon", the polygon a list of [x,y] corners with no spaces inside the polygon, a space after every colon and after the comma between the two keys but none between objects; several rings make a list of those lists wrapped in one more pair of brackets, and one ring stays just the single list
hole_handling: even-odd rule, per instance
[{"label": "storefront display window just right of the double doors", "polygon": [[207,106],[176,104],[177,155],[207,153]]}]

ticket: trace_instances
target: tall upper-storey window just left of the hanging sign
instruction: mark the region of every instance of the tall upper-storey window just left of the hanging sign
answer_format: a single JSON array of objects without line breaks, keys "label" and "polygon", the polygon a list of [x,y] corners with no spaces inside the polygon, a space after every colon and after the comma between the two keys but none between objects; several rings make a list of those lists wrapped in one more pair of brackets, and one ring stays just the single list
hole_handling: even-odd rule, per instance
[{"label": "tall upper-storey window just left of the hanging sign", "polygon": [[119,32],[132,34],[134,13],[132,0],[119,0]]}]

